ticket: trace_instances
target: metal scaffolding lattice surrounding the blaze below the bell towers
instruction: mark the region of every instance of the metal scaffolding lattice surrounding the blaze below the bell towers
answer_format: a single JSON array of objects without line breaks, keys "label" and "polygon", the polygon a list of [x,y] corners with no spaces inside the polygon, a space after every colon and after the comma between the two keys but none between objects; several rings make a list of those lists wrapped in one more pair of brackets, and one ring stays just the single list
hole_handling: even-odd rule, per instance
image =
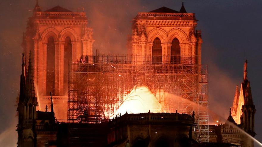
[{"label": "metal scaffolding lattice surrounding the blaze below the bell towers", "polygon": [[[195,57],[100,55],[89,56],[89,61],[91,58],[93,63],[72,63],[68,76],[69,122],[106,121],[134,87],[146,86],[152,93],[163,90],[182,97],[179,108],[172,99],[160,97],[164,101],[163,112],[194,111],[194,137],[208,142],[208,70],[207,66],[195,64]],[[152,64],[152,59],[161,61]]]}]

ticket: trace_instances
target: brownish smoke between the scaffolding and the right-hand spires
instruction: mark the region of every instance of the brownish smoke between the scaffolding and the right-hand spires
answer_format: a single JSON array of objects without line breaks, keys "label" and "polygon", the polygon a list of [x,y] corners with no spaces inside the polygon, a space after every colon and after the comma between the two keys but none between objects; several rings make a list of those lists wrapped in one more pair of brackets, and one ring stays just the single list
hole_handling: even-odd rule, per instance
[{"label": "brownish smoke between the scaffolding and the right-hand spires", "polygon": [[[241,80],[236,77],[239,75],[230,76],[230,70],[224,70],[209,62],[209,73],[208,73],[208,99],[209,109],[223,118],[229,116],[229,108],[232,107],[236,85],[241,84]],[[209,123],[215,124],[219,120],[219,117],[210,115]],[[220,121],[224,123],[224,121]]]}]

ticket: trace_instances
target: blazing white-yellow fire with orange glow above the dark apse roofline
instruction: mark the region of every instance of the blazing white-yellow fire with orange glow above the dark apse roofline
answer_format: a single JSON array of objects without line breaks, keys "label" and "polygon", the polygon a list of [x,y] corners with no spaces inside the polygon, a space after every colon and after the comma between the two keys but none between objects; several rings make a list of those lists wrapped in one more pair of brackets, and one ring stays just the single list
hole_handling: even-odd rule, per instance
[{"label": "blazing white-yellow fire with orange glow above the dark apse roofline", "polygon": [[123,102],[118,106],[118,109],[110,115],[110,118],[120,113],[122,115],[125,113],[147,113],[149,110],[152,113],[174,113],[176,110],[186,112],[187,108],[191,109],[196,104],[164,90],[153,93],[147,87],[141,86],[133,88],[129,94],[124,96]]}]

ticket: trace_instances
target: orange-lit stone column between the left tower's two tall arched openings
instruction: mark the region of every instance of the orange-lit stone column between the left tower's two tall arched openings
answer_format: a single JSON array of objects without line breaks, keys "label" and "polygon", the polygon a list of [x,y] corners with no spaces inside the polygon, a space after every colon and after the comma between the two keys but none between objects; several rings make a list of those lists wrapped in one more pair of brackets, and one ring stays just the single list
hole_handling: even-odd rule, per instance
[{"label": "orange-lit stone column between the left tower's two tall arched openings", "polygon": [[64,88],[64,43],[62,41],[55,42],[54,94],[56,96],[62,96]]}]

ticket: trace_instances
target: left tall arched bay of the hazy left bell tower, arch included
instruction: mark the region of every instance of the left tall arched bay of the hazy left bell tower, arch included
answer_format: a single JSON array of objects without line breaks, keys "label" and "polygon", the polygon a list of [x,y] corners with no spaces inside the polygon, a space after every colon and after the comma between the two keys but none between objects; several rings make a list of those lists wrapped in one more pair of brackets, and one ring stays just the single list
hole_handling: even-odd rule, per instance
[{"label": "left tall arched bay of the hazy left bell tower, arch included", "polygon": [[35,45],[35,50],[38,51],[38,57],[35,60],[35,64],[38,67],[38,72],[37,72],[38,73],[37,88],[39,92],[38,94],[49,95],[49,92],[52,92],[54,94],[55,42],[58,41],[58,35],[59,32],[57,31],[57,29],[48,28],[45,31],[43,31],[43,33],[41,34],[41,38],[39,42],[35,42],[36,44],[38,44]]}]

